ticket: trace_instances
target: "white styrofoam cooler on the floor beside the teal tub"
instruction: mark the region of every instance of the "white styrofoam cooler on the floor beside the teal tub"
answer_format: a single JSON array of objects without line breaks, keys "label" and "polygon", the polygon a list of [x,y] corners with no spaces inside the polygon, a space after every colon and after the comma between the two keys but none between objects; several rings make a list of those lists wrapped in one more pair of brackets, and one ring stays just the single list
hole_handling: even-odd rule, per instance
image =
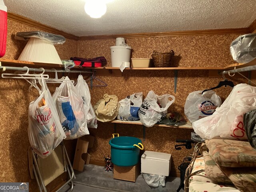
[{"label": "white styrofoam cooler on the floor beside the teal tub", "polygon": [[145,151],[141,156],[141,172],[169,176],[171,170],[171,154]]}]

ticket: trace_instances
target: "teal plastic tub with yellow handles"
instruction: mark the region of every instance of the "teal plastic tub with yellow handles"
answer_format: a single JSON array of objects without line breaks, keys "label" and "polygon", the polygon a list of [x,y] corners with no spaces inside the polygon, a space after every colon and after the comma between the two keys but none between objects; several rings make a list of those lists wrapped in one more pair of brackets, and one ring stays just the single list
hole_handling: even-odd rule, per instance
[{"label": "teal plastic tub with yellow handles", "polygon": [[140,158],[140,150],[144,147],[136,137],[114,137],[109,141],[111,146],[111,161],[117,166],[134,166]]}]

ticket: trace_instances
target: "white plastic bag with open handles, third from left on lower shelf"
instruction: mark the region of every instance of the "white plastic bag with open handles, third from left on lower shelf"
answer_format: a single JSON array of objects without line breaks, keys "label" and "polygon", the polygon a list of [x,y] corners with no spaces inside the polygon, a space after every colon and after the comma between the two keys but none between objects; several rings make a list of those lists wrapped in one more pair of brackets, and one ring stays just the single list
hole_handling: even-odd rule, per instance
[{"label": "white plastic bag with open handles, third from left on lower shelf", "polygon": [[[169,98],[172,98],[170,101]],[[166,117],[167,109],[174,102],[175,97],[169,94],[158,96],[154,91],[148,92],[139,110],[142,124],[152,127],[154,124]]]}]

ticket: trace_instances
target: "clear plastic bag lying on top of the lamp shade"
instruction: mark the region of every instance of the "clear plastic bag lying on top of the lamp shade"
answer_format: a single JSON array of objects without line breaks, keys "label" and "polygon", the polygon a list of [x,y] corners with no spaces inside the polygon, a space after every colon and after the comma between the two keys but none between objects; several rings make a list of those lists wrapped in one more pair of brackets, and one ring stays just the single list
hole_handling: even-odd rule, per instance
[{"label": "clear plastic bag lying on top of the lamp shade", "polygon": [[64,36],[41,31],[18,32],[15,34],[14,38],[17,40],[29,40],[31,37],[46,40],[51,44],[64,44],[64,42],[66,42],[66,38],[64,38]]}]

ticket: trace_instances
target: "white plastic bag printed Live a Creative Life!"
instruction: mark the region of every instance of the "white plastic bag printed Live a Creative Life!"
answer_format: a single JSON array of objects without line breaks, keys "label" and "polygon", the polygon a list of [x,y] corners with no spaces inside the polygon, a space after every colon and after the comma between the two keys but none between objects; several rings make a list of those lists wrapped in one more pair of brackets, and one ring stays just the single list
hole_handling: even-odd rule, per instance
[{"label": "white plastic bag printed Live a Creative Life!", "polygon": [[194,91],[188,94],[184,112],[190,122],[210,116],[221,105],[221,98],[214,91]]}]

